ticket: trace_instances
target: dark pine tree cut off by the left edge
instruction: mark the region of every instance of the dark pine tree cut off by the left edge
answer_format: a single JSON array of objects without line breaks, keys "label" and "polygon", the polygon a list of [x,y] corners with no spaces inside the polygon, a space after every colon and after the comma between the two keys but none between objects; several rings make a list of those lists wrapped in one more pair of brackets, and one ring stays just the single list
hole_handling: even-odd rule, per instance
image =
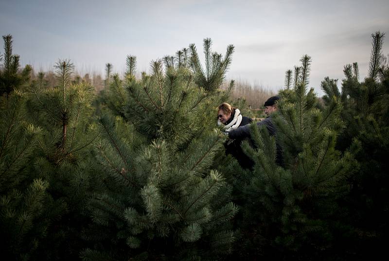
[{"label": "dark pine tree cut off by the left edge", "polygon": [[27,117],[28,94],[23,89],[29,68],[18,72],[12,37],[3,39],[6,59],[0,70],[5,93],[0,96],[0,249],[4,260],[35,260],[42,253],[52,220],[60,216],[64,205],[53,200],[48,180],[34,170],[34,154],[43,130]]}]

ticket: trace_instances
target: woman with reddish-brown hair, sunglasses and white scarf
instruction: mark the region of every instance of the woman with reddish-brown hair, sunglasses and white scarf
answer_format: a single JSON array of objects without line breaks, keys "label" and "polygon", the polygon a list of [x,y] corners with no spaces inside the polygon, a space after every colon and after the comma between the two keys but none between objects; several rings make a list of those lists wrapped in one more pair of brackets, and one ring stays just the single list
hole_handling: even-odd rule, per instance
[{"label": "woman with reddish-brown hair, sunglasses and white scarf", "polygon": [[[231,106],[228,103],[222,103],[218,107],[217,113],[217,125],[224,125],[224,131],[230,132],[239,126],[244,126],[252,122],[252,120],[246,116],[240,114],[240,110]],[[242,168],[248,169],[253,166],[253,162],[243,152],[241,144],[243,139],[229,140],[225,144],[226,155],[231,154],[235,157]]]}]

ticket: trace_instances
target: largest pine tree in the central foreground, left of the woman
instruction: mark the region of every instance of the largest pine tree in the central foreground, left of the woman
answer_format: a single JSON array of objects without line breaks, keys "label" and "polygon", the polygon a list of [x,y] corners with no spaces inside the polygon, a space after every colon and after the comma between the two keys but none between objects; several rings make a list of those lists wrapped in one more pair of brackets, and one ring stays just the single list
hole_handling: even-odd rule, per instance
[{"label": "largest pine tree in the central foreground, left of the woman", "polygon": [[[211,41],[204,42],[210,53]],[[228,50],[224,59],[210,55],[201,74],[192,45],[195,71],[180,59],[165,69],[157,60],[150,75],[124,83],[125,117],[99,121],[96,157],[104,171],[89,202],[94,225],[85,232],[95,247],[84,260],[207,260],[231,250],[237,207],[225,178],[211,169],[225,140],[213,115],[225,98],[217,85],[230,64]]]}]

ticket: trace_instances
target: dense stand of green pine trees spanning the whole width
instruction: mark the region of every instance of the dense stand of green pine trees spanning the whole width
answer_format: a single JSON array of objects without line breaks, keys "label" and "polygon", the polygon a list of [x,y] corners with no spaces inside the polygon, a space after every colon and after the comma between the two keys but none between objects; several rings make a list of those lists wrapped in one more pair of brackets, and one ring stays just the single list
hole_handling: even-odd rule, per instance
[{"label": "dense stand of green pine trees spanning the whole width", "polygon": [[322,81],[321,100],[308,89],[310,56],[294,76],[287,71],[295,81],[278,93],[277,137],[253,124],[254,148],[242,145],[252,170],[225,155],[227,138],[216,127],[218,104],[254,106],[243,99],[247,85],[238,85],[241,99],[231,99],[233,81],[222,87],[232,45],[222,55],[205,39],[205,64],[190,45],[153,61],[140,78],[136,57],[127,56],[125,74],[107,64],[96,92],[69,60],[53,74],[20,69],[11,35],[3,40],[4,260],[366,260],[385,253],[384,34],[372,35],[368,77],[346,65],[340,89],[335,79]]}]

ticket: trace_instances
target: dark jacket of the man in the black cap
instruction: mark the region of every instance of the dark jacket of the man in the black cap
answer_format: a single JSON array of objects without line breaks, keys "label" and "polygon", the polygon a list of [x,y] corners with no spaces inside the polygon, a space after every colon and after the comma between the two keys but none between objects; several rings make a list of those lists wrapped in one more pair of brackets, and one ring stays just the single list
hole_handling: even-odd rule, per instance
[{"label": "dark jacket of the man in the black cap", "polygon": [[[267,117],[265,120],[257,122],[257,126],[260,127],[262,125],[266,126],[267,131],[271,136],[276,136],[277,129],[273,124],[273,119],[271,116]],[[228,134],[230,139],[246,139],[251,137],[250,135],[250,125],[238,127],[234,130],[231,130]],[[277,149],[277,155],[276,155],[276,163],[280,166],[283,166],[283,150],[280,144],[276,140],[276,149]]]}]

